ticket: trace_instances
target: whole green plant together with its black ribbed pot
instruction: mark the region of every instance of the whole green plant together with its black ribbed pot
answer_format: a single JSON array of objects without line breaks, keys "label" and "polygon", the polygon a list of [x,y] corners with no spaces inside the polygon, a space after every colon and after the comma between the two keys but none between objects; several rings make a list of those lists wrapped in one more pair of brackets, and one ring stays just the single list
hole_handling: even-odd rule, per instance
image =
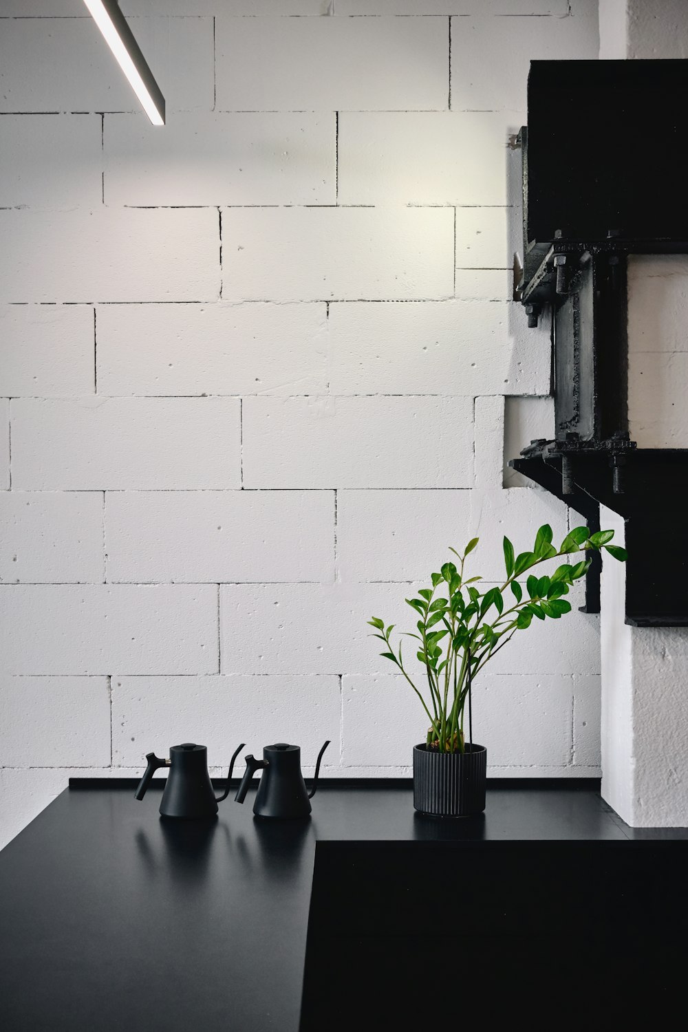
[{"label": "whole green plant together with its black ribbed pot", "polygon": [[[414,806],[435,816],[464,816],[482,813],[485,809],[487,749],[472,740],[471,688],[485,665],[506,645],[519,631],[527,631],[533,619],[558,620],[570,612],[563,598],[575,581],[585,576],[590,560],[588,551],[605,549],[615,559],[624,561],[623,548],[608,544],[614,530],[590,534],[588,527],[577,526],[566,535],[557,549],[552,544],[552,527],[540,526],[532,551],[516,555],[514,546],[504,538],[503,584],[486,590],[477,587],[482,577],[464,577],[466,557],[478,545],[478,538],[468,542],[462,553],[451,548],[458,566],[446,562],[439,573],[431,574],[431,586],[421,588],[418,598],[406,599],[420,619],[418,633],[406,633],[417,642],[416,658],[421,664],[423,686],[408,672],[407,662],[392,646],[394,624],[385,625],[380,617],[368,623],[375,628],[375,638],[386,645],[380,654],[389,659],[405,677],[418,696],[429,721],[426,741],[414,748]],[[571,562],[570,556],[581,556]],[[548,576],[527,575],[525,584],[518,578],[559,557],[566,557]],[[467,710],[468,739],[464,717]]]}]

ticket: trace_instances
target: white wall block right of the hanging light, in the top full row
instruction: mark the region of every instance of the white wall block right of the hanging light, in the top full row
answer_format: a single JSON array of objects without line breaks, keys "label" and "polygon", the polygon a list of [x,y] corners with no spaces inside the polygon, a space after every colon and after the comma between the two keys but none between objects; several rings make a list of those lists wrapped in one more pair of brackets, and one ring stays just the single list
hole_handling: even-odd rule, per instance
[{"label": "white wall block right of the hanging light, in the top full row", "polygon": [[445,19],[217,20],[219,110],[443,110]]}]

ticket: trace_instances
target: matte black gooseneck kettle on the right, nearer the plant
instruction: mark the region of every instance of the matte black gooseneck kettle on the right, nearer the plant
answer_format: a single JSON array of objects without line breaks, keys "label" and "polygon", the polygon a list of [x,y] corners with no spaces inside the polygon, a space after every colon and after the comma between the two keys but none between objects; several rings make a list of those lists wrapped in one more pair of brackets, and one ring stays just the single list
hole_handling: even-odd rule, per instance
[{"label": "matte black gooseneck kettle on the right, nearer the plant", "polygon": [[306,791],[305,781],[301,774],[301,750],[299,746],[287,745],[286,742],[276,742],[275,745],[265,746],[262,760],[256,760],[252,755],[245,757],[247,769],[234,799],[237,803],[243,802],[252,777],[256,771],[262,770],[263,773],[258,784],[256,802],[253,808],[256,816],[282,819],[307,817],[312,810],[309,800],[316,795],[316,788],[318,787],[320,762],[329,744],[329,741],[325,742],[318,754],[316,773],[310,792]]}]

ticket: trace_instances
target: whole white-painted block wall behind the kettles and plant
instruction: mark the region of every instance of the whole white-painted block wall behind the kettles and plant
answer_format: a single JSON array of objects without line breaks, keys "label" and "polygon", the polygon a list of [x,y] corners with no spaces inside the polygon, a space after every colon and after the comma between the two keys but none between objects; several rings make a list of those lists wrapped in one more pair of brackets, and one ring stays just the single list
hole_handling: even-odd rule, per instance
[{"label": "whole white-painted block wall behind the kettles and plant", "polygon": [[[365,621],[413,627],[450,544],[498,578],[504,533],[568,525],[504,473],[552,415],[510,137],[531,58],[596,56],[593,0],[123,6],[164,129],[81,0],[0,0],[0,844],[189,738],[407,775],[422,714]],[[686,351],[655,271],[631,369]],[[494,773],[597,773],[597,636],[495,658]]]}]

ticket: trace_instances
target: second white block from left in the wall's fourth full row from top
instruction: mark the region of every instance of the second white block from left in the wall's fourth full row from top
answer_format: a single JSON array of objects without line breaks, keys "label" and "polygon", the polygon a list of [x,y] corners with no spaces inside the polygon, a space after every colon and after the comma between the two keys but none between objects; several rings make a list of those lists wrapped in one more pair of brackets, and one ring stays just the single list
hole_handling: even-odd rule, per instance
[{"label": "second white block from left in the wall's fourth full row from top", "polygon": [[102,394],[327,392],[325,304],[101,304],[96,318]]}]

